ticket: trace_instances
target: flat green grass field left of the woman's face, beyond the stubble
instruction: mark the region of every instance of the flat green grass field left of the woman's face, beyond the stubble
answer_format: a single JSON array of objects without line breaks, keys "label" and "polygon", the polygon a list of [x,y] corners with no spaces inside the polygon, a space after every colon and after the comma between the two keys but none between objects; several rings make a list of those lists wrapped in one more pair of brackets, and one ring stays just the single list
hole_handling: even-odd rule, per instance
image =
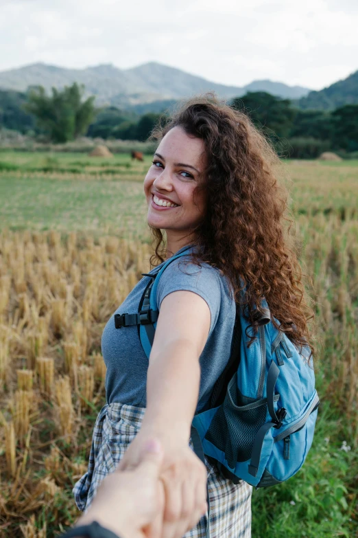
[{"label": "flat green grass field left of the woman's face, beyond the stubble", "polygon": [[142,163],[126,154],[102,159],[77,153],[3,152],[0,227],[86,229],[145,240],[143,179],[150,162],[148,156]]}]

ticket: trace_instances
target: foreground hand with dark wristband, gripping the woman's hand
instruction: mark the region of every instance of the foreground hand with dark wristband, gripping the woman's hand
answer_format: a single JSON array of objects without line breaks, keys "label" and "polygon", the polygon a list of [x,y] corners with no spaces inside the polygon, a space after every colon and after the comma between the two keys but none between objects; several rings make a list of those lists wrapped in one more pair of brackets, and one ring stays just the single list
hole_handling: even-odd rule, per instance
[{"label": "foreground hand with dark wristband, gripping the woman's hand", "polygon": [[77,526],[97,521],[121,538],[160,537],[164,508],[164,489],[159,480],[162,463],[163,447],[155,438],[148,439],[134,470],[119,466],[106,476]]}]

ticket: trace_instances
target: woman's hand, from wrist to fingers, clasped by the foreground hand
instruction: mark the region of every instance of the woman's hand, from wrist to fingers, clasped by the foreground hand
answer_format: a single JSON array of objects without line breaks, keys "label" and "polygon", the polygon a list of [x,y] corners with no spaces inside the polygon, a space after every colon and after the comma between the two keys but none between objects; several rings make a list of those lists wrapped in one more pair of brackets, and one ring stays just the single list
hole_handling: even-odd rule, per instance
[{"label": "woman's hand, from wrist to fingers, clasped by the foreground hand", "polygon": [[[145,431],[139,431],[121,460],[119,470],[136,467],[148,436]],[[206,467],[187,442],[174,437],[160,438],[160,442],[164,449],[160,480],[164,486],[165,506],[162,533],[158,538],[182,538],[206,513]]]}]

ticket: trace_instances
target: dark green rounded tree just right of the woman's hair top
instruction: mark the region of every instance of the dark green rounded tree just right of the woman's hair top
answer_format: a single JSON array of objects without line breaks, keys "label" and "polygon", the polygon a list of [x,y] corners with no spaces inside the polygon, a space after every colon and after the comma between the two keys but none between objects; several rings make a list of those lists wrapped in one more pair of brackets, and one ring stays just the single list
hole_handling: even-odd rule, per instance
[{"label": "dark green rounded tree just right of the woman's hair top", "polygon": [[232,108],[247,113],[254,124],[270,138],[288,137],[296,110],[289,99],[272,96],[266,91],[249,91],[241,98],[235,98]]}]

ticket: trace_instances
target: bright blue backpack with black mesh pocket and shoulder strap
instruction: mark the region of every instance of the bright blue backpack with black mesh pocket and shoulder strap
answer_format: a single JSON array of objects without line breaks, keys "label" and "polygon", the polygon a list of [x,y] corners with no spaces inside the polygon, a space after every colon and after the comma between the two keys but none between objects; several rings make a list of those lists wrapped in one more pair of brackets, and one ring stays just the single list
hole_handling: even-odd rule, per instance
[{"label": "bright blue backpack with black mesh pocket and shoulder strap", "polygon": [[[150,279],[138,313],[115,315],[116,328],[138,326],[148,359],[159,314],[158,281],[186,250],[169,258],[155,274],[143,273]],[[284,482],[302,467],[320,403],[309,346],[298,350],[274,328],[265,300],[261,306],[263,313],[256,311],[259,333],[248,347],[249,322],[237,304],[230,359],[191,427],[195,453],[203,462],[205,454],[225,478],[245,480],[256,488]]]}]

